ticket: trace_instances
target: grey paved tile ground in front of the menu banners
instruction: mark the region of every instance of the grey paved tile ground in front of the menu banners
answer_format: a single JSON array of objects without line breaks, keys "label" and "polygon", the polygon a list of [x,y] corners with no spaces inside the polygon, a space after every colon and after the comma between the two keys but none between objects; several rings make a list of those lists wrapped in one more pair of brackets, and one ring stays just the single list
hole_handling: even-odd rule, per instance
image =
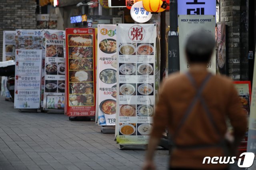
[{"label": "grey paved tile ground in front of the menu banners", "polygon": [[[114,134],[102,134],[94,122],[20,113],[2,97],[0,108],[0,170],[141,169],[145,151],[119,150]],[[158,150],[155,162],[167,169],[168,151]]]}]

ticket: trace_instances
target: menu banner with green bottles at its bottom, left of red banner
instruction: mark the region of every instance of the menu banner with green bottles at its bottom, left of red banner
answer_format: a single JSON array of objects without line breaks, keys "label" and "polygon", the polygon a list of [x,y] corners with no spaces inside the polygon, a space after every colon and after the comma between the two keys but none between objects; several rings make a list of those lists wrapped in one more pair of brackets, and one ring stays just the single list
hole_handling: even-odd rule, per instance
[{"label": "menu banner with green bottles at its bottom, left of red banner", "polygon": [[46,38],[44,109],[63,109],[65,95],[65,58],[63,32],[44,34]]}]

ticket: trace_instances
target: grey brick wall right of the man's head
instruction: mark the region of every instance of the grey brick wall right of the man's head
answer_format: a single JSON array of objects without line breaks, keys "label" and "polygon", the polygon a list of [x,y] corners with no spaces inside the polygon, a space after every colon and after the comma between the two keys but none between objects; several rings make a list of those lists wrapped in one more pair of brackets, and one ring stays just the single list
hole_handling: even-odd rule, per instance
[{"label": "grey brick wall right of the man's head", "polygon": [[[248,32],[244,31],[241,12],[244,12],[243,2],[247,0],[221,0],[220,20],[225,21],[228,26],[228,73],[234,80],[248,79],[248,59],[246,51],[248,47]],[[247,63],[246,63],[247,62]]]}]

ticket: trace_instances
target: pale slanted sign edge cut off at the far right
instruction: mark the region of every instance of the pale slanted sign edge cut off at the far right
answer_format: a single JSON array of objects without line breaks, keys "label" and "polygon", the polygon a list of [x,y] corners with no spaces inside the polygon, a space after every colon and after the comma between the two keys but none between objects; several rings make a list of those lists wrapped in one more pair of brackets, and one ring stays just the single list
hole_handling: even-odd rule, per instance
[{"label": "pale slanted sign edge cut off at the far right", "polygon": [[[253,77],[256,77],[256,60],[254,61]],[[256,153],[256,79],[252,82],[252,100],[250,107],[250,121],[248,132],[247,152]],[[251,167],[251,170],[255,169]]]}]

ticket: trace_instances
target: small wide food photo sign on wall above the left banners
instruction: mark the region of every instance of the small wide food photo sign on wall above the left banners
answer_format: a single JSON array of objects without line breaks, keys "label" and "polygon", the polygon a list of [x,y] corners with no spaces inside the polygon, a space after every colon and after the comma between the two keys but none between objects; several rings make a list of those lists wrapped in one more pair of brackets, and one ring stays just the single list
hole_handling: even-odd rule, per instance
[{"label": "small wide food photo sign on wall above the left banners", "polygon": [[57,30],[57,21],[58,16],[56,14],[38,14],[36,15],[36,28]]}]

